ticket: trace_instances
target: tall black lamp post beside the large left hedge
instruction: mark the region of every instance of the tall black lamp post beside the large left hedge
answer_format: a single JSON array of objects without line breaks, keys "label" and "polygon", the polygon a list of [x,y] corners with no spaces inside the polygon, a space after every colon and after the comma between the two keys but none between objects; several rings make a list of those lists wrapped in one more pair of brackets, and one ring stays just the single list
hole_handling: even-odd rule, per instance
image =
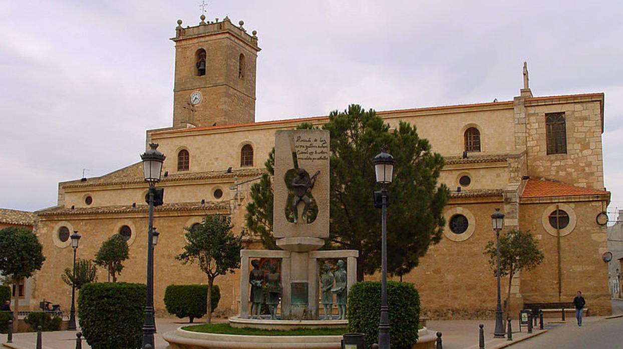
[{"label": "tall black lamp post beside the large left hedge", "polygon": [[159,152],[157,143],[150,143],[148,149],[143,155],[143,172],[145,174],[145,182],[150,185],[149,188],[149,227],[147,231],[147,295],[145,302],[145,322],[143,322],[143,348],[150,345],[154,348],[154,332],[156,332],[156,323],[154,322],[154,246],[158,241],[158,235],[154,236],[154,196],[155,185],[160,181],[162,172],[162,164],[164,162],[164,154]]}]

